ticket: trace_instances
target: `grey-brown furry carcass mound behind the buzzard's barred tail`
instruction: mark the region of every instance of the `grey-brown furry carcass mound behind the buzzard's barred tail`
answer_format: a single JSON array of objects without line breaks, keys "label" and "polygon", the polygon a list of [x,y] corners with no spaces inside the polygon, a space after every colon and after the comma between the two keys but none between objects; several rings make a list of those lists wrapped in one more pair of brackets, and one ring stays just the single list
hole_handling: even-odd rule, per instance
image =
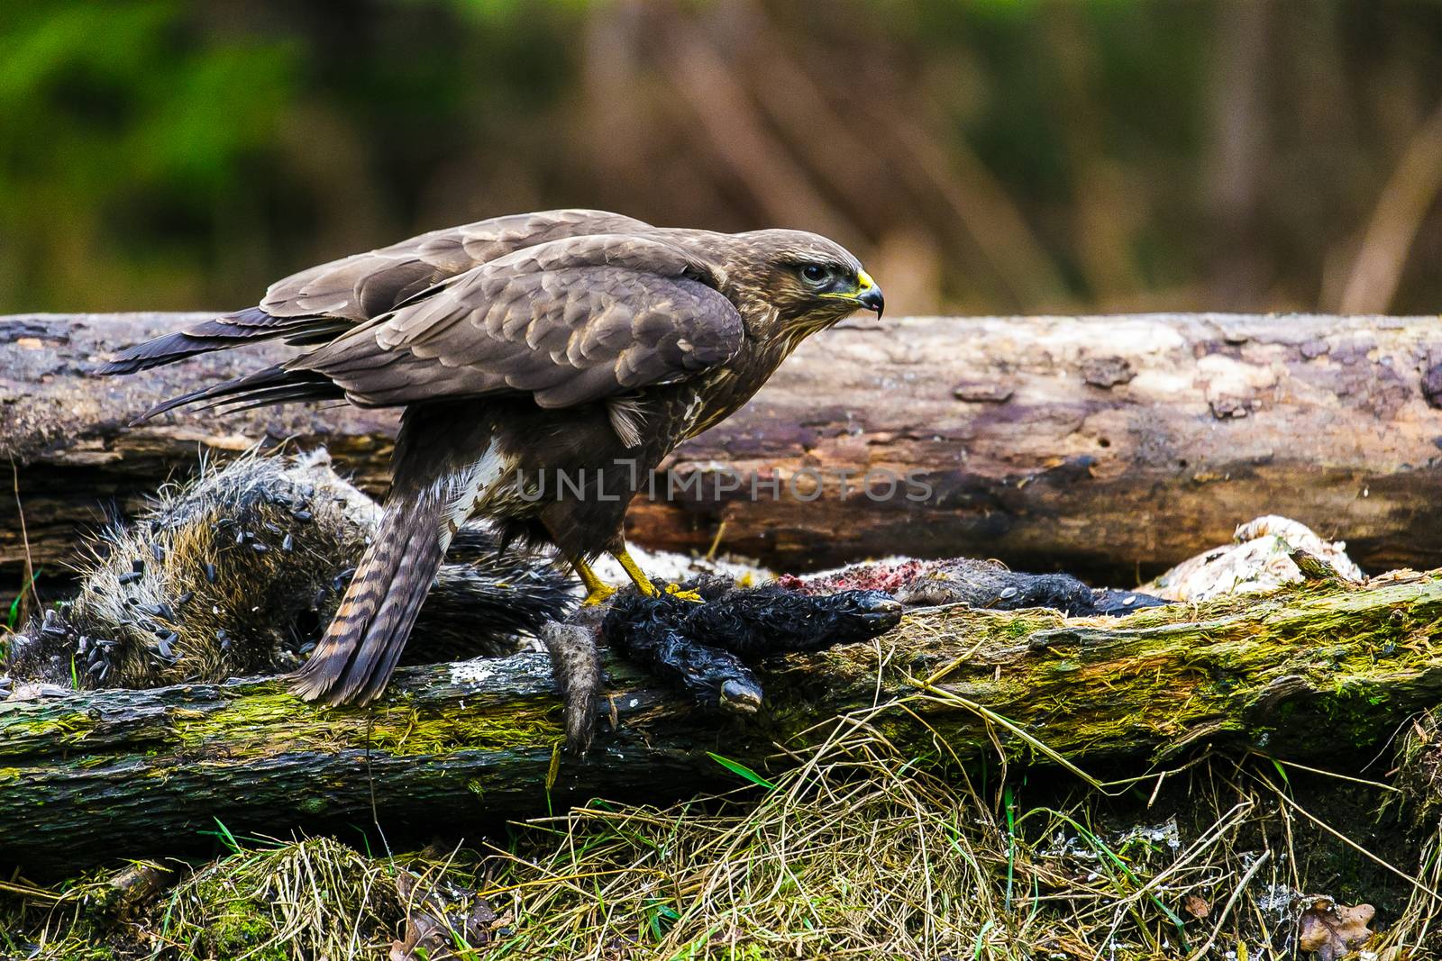
[{"label": "grey-brown furry carcass mound behind the buzzard's barred tail", "polygon": [[[89,689],[294,670],[379,517],[324,451],[202,465],[134,522],[98,533],[78,565],[76,596],[12,637],[0,673]],[[421,614],[411,661],[512,653],[568,595],[549,563],[500,556],[486,529],[466,527]]]}]

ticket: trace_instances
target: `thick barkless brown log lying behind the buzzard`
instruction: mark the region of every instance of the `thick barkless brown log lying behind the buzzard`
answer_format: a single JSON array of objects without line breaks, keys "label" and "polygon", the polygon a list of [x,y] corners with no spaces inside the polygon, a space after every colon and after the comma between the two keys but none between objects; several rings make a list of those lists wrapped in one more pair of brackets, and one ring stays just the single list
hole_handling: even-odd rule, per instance
[{"label": "thick barkless brown log lying behind the buzzard", "polygon": [[[133,504],[205,448],[326,442],[368,487],[384,484],[389,412],[182,412],[125,428],[160,398],[286,353],[91,375],[112,349],[193,317],[0,320],[0,452],[20,468],[36,562],[63,556],[99,504]],[[751,405],[678,451],[678,480],[699,477],[709,496],[639,500],[632,533],[705,549],[721,532],[724,549],[780,569],[906,552],[1135,582],[1279,513],[1345,539],[1364,569],[1436,566],[1439,402],[1435,317],[852,320],[802,344]],[[717,494],[725,468],[744,480]],[[825,475],[819,497],[805,468]],[[904,484],[859,493],[870,468],[916,471],[930,497],[911,501]],[[845,504],[839,471],[854,474]],[[793,478],[806,499],[784,494]],[[23,549],[4,501],[0,562],[14,571]]]}]

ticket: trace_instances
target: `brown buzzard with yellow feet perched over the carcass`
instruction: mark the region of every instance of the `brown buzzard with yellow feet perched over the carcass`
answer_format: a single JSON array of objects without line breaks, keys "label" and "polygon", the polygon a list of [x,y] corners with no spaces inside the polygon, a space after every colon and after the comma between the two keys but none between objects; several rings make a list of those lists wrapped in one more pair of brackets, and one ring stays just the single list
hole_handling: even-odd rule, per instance
[{"label": "brown buzzard with yellow feet perched over the carcass", "polygon": [[301,271],[260,305],[121,352],[133,373],[284,339],[284,363],[169,399],[244,408],[346,399],[404,408],[392,486],[335,620],[293,689],[368,703],[384,689],[456,530],[472,516],[590,566],[626,552],[626,506],[671,450],[740,408],[806,336],[881,290],[800,231],[655,228],[551,210],[424,233]]}]

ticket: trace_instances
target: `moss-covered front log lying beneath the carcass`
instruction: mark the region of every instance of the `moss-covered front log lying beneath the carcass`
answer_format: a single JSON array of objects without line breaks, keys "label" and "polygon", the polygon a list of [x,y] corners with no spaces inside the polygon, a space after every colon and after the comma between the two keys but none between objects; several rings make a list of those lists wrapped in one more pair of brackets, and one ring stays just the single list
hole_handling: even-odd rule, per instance
[{"label": "moss-covered front log lying beneath the carcass", "polygon": [[402,670],[369,709],[274,680],[0,702],[0,862],[74,873],[173,852],[215,818],[284,834],[373,810],[386,830],[474,831],[597,795],[660,803],[737,782],[708,751],[774,771],[845,713],[960,762],[1001,746],[1139,774],[1214,746],[1345,766],[1442,702],[1442,572],[1123,620],[924,609],[875,643],[763,663],[767,707],[748,722],[606,670],[585,759],[559,754],[544,654]]}]

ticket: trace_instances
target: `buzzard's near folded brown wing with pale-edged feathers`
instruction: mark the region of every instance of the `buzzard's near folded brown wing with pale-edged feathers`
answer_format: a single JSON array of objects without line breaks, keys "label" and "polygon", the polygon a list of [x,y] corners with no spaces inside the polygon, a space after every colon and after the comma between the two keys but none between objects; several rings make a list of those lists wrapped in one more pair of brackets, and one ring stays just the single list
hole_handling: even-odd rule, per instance
[{"label": "buzzard's near folded brown wing with pale-edged feathers", "polygon": [[581,236],[467,271],[287,365],[359,405],[528,392],[572,406],[733,357],[741,316],[708,265],[646,236]]}]

